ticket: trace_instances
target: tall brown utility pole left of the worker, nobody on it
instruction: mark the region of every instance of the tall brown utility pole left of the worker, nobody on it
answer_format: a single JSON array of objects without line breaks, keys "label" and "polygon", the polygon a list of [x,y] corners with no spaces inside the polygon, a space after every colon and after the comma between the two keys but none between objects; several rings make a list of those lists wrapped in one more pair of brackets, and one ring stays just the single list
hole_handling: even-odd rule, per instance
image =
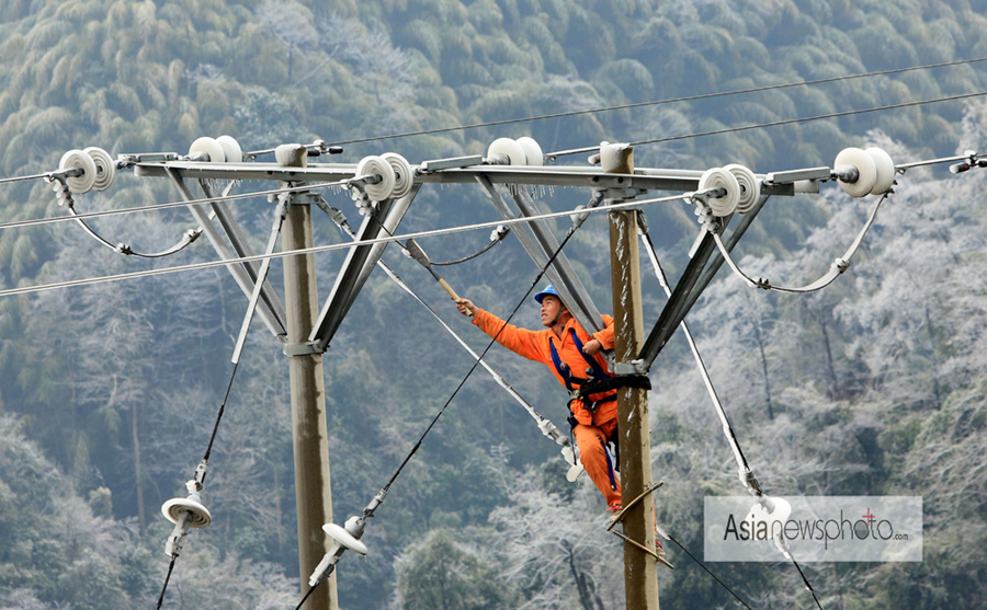
[{"label": "tall brown utility pole left of the worker, nobody on it", "polygon": [[[275,157],[282,166],[304,168],[307,164],[307,151],[298,145],[277,147]],[[311,248],[311,194],[303,192],[287,196],[290,205],[282,229],[282,249],[291,251]],[[285,354],[290,356],[292,390],[295,499],[298,510],[298,567],[304,595],[308,590],[308,576],[329,548],[322,525],[332,522],[322,355],[307,344],[319,313],[313,254],[284,258],[284,301],[287,314]],[[339,608],[334,572],[325,586],[313,592],[303,608]]]}]

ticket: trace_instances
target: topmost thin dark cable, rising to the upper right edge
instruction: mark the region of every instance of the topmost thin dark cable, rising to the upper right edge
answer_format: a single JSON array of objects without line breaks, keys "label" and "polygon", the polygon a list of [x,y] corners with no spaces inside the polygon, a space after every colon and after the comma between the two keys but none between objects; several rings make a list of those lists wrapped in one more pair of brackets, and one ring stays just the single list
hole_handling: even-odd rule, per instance
[{"label": "topmost thin dark cable, rising to the upper right edge", "polygon": [[[748,88],[748,89],[737,89],[737,90],[733,90],[733,91],[721,91],[721,92],[715,92],[715,93],[701,93],[697,95],[672,97],[672,99],[668,99],[668,100],[654,100],[654,101],[649,101],[649,102],[636,102],[636,103],[632,103],[632,104],[620,104],[620,105],[614,105],[614,106],[588,108],[588,110],[582,110],[582,111],[568,111],[568,112],[560,112],[560,113],[543,114],[543,115],[537,115],[537,116],[527,116],[527,117],[523,117],[523,118],[490,120],[490,122],[486,122],[486,123],[474,123],[470,125],[461,125],[457,127],[439,127],[435,129],[421,129],[418,131],[406,131],[402,134],[392,134],[388,136],[372,136],[372,137],[367,137],[367,138],[354,138],[351,140],[340,140],[340,141],[337,141],[333,143],[336,146],[344,146],[344,145],[353,145],[353,143],[373,142],[373,141],[379,141],[379,140],[410,138],[410,137],[415,137],[415,136],[430,136],[430,135],[434,135],[434,134],[446,134],[450,131],[462,131],[465,129],[478,129],[481,127],[497,127],[499,125],[513,125],[517,123],[531,123],[531,122],[535,122],[535,120],[545,120],[545,119],[549,119],[549,118],[563,118],[563,117],[568,117],[568,116],[598,114],[598,113],[622,111],[622,110],[628,110],[628,108],[659,106],[659,105],[674,104],[674,103],[680,103],[680,102],[694,102],[694,101],[699,101],[699,100],[710,100],[710,99],[715,99],[715,97],[724,97],[727,95],[741,95],[741,94],[746,94],[746,93],[759,93],[762,91],[772,91],[772,90],[776,90],[776,89],[786,89],[786,88],[792,88],[792,87],[815,85],[815,84],[824,84],[824,83],[828,83],[828,82],[839,82],[839,81],[850,80],[850,79],[872,78],[872,77],[881,77],[881,76],[888,76],[888,74],[897,74],[897,73],[903,73],[903,72],[911,72],[911,71],[916,71],[916,70],[946,68],[946,67],[951,67],[951,66],[962,66],[965,64],[976,64],[979,61],[987,61],[987,57],[979,57],[976,59],[957,59],[954,61],[943,61],[940,64],[928,64],[924,66],[912,66],[909,68],[895,68],[892,70],[881,70],[881,71],[876,71],[876,72],[863,72],[863,73],[856,73],[856,74],[847,74],[847,76],[842,76],[842,77],[830,77],[830,78],[825,78],[825,79],[814,79],[814,80],[798,81],[798,82],[786,82],[786,83],[782,83],[782,84],[769,84],[769,85],[763,85],[763,87],[752,87],[752,88]],[[259,154],[268,154],[271,152],[274,152],[273,148],[256,150],[256,151],[247,152],[246,154],[248,157],[257,157]]]}]

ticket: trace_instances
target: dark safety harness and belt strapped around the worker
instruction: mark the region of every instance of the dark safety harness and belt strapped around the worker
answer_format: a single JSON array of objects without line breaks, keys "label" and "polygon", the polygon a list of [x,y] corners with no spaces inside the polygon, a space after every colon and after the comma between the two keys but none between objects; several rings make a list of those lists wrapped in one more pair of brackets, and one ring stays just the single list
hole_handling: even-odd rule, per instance
[{"label": "dark safety harness and belt strapped around the worker", "polygon": [[[569,334],[572,337],[572,343],[576,345],[576,349],[579,352],[579,355],[582,356],[582,359],[589,365],[589,368],[586,369],[587,375],[591,376],[589,378],[586,377],[576,377],[572,375],[572,371],[569,369],[569,365],[561,361],[561,358],[558,356],[558,349],[555,347],[555,337],[548,337],[548,346],[552,350],[552,362],[555,365],[555,370],[558,371],[559,377],[563,378],[563,381],[566,382],[566,389],[569,390],[569,402],[566,406],[569,408],[569,426],[571,428],[576,428],[578,421],[576,419],[576,414],[572,412],[572,403],[576,401],[581,401],[583,408],[589,411],[590,422],[594,428],[600,429],[597,426],[595,415],[597,408],[604,403],[613,402],[616,400],[616,393],[609,394],[603,396],[598,401],[591,401],[590,395],[599,394],[601,392],[609,392],[611,390],[616,390],[619,388],[644,388],[646,390],[651,389],[651,382],[648,380],[647,376],[638,376],[638,375],[621,375],[614,376],[600,366],[600,362],[595,360],[595,358],[590,357],[582,349],[582,342],[579,341],[579,335],[576,334],[576,329],[569,329]],[[602,433],[602,430],[600,430]],[[606,435],[603,435],[604,439]],[[610,488],[616,490],[616,476],[614,475],[615,470],[620,470],[620,454],[621,447],[619,442],[617,435],[614,435],[613,440],[610,441],[613,445],[613,458],[611,459],[611,451],[606,446],[606,441],[603,440],[603,453],[606,456],[606,470],[610,474]],[[614,465],[616,464],[616,467]]]}]

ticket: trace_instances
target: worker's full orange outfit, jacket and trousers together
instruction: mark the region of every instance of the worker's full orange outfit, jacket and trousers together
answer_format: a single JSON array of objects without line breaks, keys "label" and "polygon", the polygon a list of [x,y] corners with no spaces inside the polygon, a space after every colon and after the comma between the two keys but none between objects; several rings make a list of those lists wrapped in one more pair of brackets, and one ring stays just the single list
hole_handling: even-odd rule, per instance
[{"label": "worker's full orange outfit, jacket and trousers together", "polygon": [[[503,320],[476,307],[473,312],[473,323],[491,337],[497,335],[497,332],[503,326]],[[604,315],[603,323],[605,327],[591,336],[576,322],[575,318],[570,319],[566,323],[561,337],[556,336],[551,329],[530,331],[508,324],[497,336],[497,343],[529,360],[547,366],[563,385],[578,388],[580,382],[574,378],[592,379],[593,376],[587,372],[591,370],[591,367],[579,346],[576,345],[572,332],[575,331],[582,345],[595,338],[604,349],[613,349],[613,318]],[[568,384],[555,365],[552,354],[553,345],[561,368],[570,373]],[[611,376],[602,355],[587,357],[594,360],[598,368],[605,375]],[[572,433],[576,436],[576,444],[579,446],[579,458],[587,474],[606,498],[608,506],[619,506],[621,504],[621,483],[609,464],[605,449],[606,441],[614,438],[616,434],[616,390],[591,394],[589,399],[597,405],[595,411],[592,410],[592,404],[585,404],[581,400],[576,399],[569,402],[569,411],[577,422]]]}]

